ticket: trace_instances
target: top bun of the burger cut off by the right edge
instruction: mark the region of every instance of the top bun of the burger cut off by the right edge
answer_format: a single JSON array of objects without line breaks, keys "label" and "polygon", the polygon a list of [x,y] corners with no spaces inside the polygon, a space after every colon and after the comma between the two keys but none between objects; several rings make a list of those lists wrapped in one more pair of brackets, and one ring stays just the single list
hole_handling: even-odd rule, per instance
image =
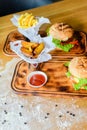
[{"label": "top bun of the burger cut off by the right edge", "polygon": [[87,57],[75,57],[69,64],[70,73],[77,78],[87,78]]}]

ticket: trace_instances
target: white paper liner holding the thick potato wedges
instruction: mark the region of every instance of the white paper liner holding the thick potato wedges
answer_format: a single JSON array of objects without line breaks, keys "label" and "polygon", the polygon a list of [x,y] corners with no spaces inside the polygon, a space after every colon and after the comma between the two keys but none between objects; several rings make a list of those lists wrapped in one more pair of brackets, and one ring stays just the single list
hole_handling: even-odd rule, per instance
[{"label": "white paper liner holding the thick potato wedges", "polygon": [[[44,42],[44,40],[43,40]],[[17,45],[16,45],[17,44]],[[47,44],[46,42],[44,42],[45,44],[45,48],[43,49],[43,51],[39,54],[39,56],[35,59],[31,59],[31,57],[27,57],[25,56],[20,48],[21,48],[21,40],[15,41],[15,42],[10,42],[10,48],[12,51],[14,51],[19,57],[21,57],[24,61],[31,63],[31,64],[35,64],[35,63],[42,63],[45,61],[50,60],[52,57],[50,54],[48,54],[48,52],[50,50],[53,50],[53,46],[49,46],[49,44]]]}]

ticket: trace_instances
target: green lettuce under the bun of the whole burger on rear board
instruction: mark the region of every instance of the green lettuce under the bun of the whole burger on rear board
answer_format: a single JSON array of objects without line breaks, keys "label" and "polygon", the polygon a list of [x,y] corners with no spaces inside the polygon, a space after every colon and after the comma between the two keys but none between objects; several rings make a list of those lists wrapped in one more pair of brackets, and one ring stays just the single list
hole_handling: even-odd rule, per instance
[{"label": "green lettuce under the bun of the whole burger on rear board", "polygon": [[74,45],[73,45],[73,44],[70,44],[70,43],[69,43],[69,44],[62,45],[62,44],[61,44],[61,41],[58,40],[58,39],[55,39],[55,38],[52,39],[52,42],[55,44],[56,47],[62,49],[62,50],[65,51],[65,52],[69,52],[70,49],[74,47]]}]

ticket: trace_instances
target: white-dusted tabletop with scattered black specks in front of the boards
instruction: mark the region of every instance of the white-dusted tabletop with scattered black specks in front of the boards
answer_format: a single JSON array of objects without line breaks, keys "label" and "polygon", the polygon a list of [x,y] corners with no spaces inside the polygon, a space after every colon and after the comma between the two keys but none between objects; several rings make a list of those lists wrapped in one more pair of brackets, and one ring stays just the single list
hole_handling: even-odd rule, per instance
[{"label": "white-dusted tabletop with scattered black specks in front of the boards", "polygon": [[19,60],[13,58],[0,72],[0,130],[87,130],[87,98],[20,96],[12,91]]}]

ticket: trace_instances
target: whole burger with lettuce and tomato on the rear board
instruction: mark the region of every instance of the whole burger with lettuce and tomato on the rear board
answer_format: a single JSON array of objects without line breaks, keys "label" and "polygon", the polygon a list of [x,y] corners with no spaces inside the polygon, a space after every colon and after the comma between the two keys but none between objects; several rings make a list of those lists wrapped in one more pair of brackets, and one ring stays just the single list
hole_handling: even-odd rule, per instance
[{"label": "whole burger with lettuce and tomato on the rear board", "polygon": [[69,52],[74,46],[80,45],[78,33],[66,23],[55,23],[50,26],[48,35],[58,49]]}]

